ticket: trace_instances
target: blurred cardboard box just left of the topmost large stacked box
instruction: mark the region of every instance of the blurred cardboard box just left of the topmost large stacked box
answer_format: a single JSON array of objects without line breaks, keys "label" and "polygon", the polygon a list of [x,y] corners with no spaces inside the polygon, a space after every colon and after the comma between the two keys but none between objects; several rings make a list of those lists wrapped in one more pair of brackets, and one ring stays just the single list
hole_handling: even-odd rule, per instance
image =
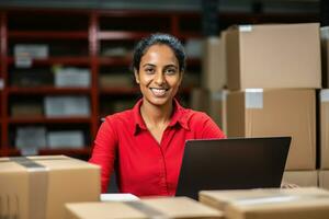
[{"label": "blurred cardboard box just left of the topmost large stacked box", "polygon": [[204,41],[202,58],[202,88],[218,91],[226,88],[226,33],[219,37],[208,37]]}]

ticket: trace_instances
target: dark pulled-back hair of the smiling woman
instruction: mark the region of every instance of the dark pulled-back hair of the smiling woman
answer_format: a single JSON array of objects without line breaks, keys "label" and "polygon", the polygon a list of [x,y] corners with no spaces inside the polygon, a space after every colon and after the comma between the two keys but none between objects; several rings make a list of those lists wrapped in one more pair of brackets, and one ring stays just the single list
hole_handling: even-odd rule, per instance
[{"label": "dark pulled-back hair of the smiling woman", "polygon": [[182,43],[170,34],[156,33],[151,34],[141,41],[139,41],[134,49],[134,57],[132,64],[132,70],[137,69],[139,71],[139,64],[141,57],[146,54],[147,49],[152,45],[167,45],[169,46],[178,61],[179,61],[179,70],[180,72],[185,69],[185,51]]}]

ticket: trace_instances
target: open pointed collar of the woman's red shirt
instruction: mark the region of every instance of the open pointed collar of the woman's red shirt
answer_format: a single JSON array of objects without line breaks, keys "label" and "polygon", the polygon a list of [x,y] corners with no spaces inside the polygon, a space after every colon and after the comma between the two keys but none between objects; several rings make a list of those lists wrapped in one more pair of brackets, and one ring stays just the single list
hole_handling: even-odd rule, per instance
[{"label": "open pointed collar of the woman's red shirt", "polygon": [[[140,99],[135,106],[133,107],[134,114],[134,126],[133,126],[133,134],[136,135],[140,129],[146,130],[146,124],[140,114],[140,106],[143,104],[143,99]],[[188,114],[185,113],[185,108],[182,107],[179,102],[174,99],[173,100],[173,115],[170,118],[169,127],[174,127],[177,124],[183,127],[186,130],[190,130],[189,123],[188,123]]]}]

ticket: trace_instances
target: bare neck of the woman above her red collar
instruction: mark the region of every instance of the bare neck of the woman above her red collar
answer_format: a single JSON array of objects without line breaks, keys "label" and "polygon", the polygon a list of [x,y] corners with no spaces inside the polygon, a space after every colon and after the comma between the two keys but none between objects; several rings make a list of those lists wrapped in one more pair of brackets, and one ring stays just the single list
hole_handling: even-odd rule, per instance
[{"label": "bare neck of the woman above her red collar", "polygon": [[163,125],[167,126],[170,122],[172,108],[172,102],[170,104],[157,106],[144,100],[140,106],[140,114],[148,128]]}]

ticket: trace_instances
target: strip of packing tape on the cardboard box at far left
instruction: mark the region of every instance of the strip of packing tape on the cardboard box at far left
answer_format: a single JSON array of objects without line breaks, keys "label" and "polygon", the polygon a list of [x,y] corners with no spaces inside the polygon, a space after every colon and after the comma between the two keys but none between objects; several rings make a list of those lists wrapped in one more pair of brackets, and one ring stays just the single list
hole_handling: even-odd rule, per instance
[{"label": "strip of packing tape on the cardboard box at far left", "polygon": [[48,186],[48,169],[25,157],[12,157],[10,161],[16,162],[27,169],[29,174],[29,218],[45,219]]}]

